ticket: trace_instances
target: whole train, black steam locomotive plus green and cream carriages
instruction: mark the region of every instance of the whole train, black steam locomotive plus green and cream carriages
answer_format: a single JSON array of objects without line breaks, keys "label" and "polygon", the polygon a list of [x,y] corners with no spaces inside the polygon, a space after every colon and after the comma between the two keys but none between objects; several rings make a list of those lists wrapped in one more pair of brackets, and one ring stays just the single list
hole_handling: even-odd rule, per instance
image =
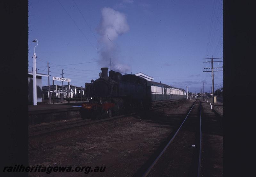
[{"label": "whole train, black steam locomotive plus green and cream carriages", "polygon": [[85,83],[87,101],[82,103],[82,118],[112,117],[113,114],[149,109],[186,98],[184,89],[148,81],[134,74],[108,72],[107,67],[101,68],[99,76],[99,79]]}]

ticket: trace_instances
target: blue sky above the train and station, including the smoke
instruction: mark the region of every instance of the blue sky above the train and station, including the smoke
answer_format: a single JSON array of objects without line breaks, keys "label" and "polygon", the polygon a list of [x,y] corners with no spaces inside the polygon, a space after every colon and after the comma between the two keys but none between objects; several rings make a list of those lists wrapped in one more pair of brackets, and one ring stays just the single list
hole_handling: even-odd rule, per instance
[{"label": "blue sky above the train and station, including the smoke", "polygon": [[[142,72],[156,82],[188,85],[192,92],[200,92],[204,81],[208,92],[211,73],[202,68],[210,64],[202,59],[223,56],[219,0],[33,0],[28,8],[28,70],[36,38],[38,73],[47,74],[49,62],[51,76],[61,77],[63,68],[64,77],[79,87],[97,79],[100,68],[109,67],[110,56],[124,73]],[[223,85],[222,76],[215,72],[215,89]],[[47,77],[42,84],[48,84]]]}]

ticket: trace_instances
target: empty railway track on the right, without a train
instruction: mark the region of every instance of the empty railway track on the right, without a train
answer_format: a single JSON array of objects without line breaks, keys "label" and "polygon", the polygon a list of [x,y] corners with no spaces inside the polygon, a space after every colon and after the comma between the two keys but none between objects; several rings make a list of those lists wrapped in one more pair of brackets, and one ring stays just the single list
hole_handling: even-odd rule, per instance
[{"label": "empty railway track on the right, without a train", "polygon": [[[193,149],[193,157],[191,157],[191,164],[189,168],[189,176],[199,176],[200,175],[200,163],[201,163],[201,138],[202,138],[202,132],[201,132],[201,105],[200,100],[196,100],[195,103],[192,105],[188,113],[186,114],[186,117],[180,122],[180,124],[172,131],[172,133],[168,136],[168,138],[159,146],[159,148],[151,155],[151,157],[140,167],[140,169],[135,173],[133,176],[154,176],[154,174],[151,174],[150,171],[154,168],[154,166],[157,164],[158,160],[161,159],[162,155],[168,148],[168,146],[171,144],[171,142],[174,140],[176,135],[180,132],[180,129],[184,127],[184,123],[186,122],[188,117],[191,117],[190,114],[192,110],[195,108],[196,103],[198,103],[199,107],[199,113],[197,113],[196,118],[195,115],[194,118],[190,118],[190,121],[192,120],[195,124],[195,142],[194,145],[192,145]],[[195,110],[194,110],[195,112]],[[197,111],[198,112],[198,111]],[[198,120],[199,119],[199,120]],[[175,139],[176,141],[177,139]],[[182,141],[182,140],[178,140]],[[172,157],[168,157],[167,160],[170,160]],[[165,163],[167,163],[165,161]],[[158,164],[158,166],[162,166]],[[163,167],[161,167],[161,171],[158,169],[157,174],[163,172]],[[151,175],[150,175],[151,174]],[[156,175],[156,174],[155,174]],[[170,175],[170,174],[168,174]]]}]

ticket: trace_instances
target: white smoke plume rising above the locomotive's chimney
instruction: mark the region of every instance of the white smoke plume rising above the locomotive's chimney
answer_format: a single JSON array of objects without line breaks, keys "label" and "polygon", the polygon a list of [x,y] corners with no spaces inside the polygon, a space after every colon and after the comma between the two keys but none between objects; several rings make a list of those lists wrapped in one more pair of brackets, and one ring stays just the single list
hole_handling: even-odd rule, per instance
[{"label": "white smoke plume rising above the locomotive's chimney", "polygon": [[117,59],[117,46],[114,42],[119,35],[129,31],[126,16],[109,7],[104,7],[101,10],[101,14],[100,25],[97,28],[97,32],[101,36],[100,44],[102,45],[102,48],[100,49],[100,57],[103,62],[101,61],[100,65],[102,67],[109,67],[109,58],[111,58],[112,63],[114,64],[114,66],[111,67],[112,70],[120,73],[127,73],[131,70],[131,67],[121,64]]}]

